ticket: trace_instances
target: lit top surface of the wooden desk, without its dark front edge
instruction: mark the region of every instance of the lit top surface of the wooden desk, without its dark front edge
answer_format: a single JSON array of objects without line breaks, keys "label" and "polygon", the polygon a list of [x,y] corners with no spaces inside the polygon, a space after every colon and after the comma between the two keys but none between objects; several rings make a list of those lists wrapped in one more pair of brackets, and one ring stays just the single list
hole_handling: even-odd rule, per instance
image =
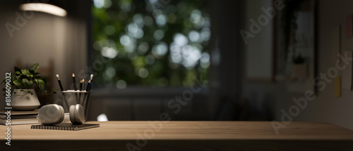
[{"label": "lit top surface of the wooden desk, without its dark front edge", "polygon": [[[88,122],[100,124],[99,128],[85,129],[80,131],[59,131],[30,129],[30,125],[11,126],[11,140],[13,142],[26,142],[33,140],[180,140],[201,141],[201,144],[209,144],[222,140],[222,143],[232,142],[236,144],[239,140],[244,143],[263,141],[289,141],[330,145],[330,143],[353,144],[353,131],[335,126],[333,124],[319,122],[292,122],[285,129],[280,129],[278,135],[275,133],[271,122]],[[4,132],[7,126],[0,126],[0,138],[5,138]],[[3,139],[4,140],[4,139]],[[49,141],[51,142],[51,141]],[[218,141],[219,142],[219,141]],[[1,142],[2,143],[2,142]],[[170,143],[170,144],[174,144]],[[84,144],[84,143],[83,143]],[[126,144],[124,142],[123,144]],[[164,145],[168,143],[163,143]],[[285,144],[285,143],[277,143]],[[293,144],[293,143],[291,143]],[[87,145],[87,144],[86,144]],[[0,145],[1,146],[1,145]],[[76,145],[77,146],[77,145]],[[157,145],[159,146],[159,145]],[[227,145],[223,145],[227,146]],[[342,145],[341,145],[342,146]],[[273,147],[273,146],[272,146]],[[348,146],[350,147],[350,146]]]}]

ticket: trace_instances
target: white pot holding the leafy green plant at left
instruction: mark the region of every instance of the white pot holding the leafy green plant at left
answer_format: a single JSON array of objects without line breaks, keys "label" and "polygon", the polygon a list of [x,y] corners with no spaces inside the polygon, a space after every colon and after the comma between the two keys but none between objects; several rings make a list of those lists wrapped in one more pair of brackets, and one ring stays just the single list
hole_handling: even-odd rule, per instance
[{"label": "white pot holding the leafy green plant at left", "polygon": [[[20,90],[23,90],[21,92]],[[28,93],[28,91],[32,92]],[[16,92],[16,93],[15,93]],[[35,110],[40,106],[35,89],[14,89],[11,96],[11,107],[13,110]]]}]

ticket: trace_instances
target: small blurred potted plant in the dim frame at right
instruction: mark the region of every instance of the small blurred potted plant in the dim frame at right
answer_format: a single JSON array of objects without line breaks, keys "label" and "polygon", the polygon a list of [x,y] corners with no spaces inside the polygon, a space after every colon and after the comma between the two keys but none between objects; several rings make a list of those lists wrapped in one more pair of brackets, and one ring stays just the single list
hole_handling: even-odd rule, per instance
[{"label": "small blurred potted plant in the dim frame at right", "polygon": [[292,77],[294,78],[306,78],[306,63],[305,58],[300,54],[293,56],[293,65],[292,65]]}]

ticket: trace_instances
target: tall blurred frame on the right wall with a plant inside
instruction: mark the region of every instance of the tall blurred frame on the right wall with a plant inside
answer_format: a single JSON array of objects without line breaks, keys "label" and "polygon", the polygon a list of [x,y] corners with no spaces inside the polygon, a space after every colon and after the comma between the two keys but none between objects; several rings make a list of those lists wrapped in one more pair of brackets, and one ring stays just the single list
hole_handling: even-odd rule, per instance
[{"label": "tall blurred frame on the right wall with a plant inside", "polygon": [[315,91],[316,0],[285,1],[277,14],[275,34],[275,77],[286,81],[292,93]]}]

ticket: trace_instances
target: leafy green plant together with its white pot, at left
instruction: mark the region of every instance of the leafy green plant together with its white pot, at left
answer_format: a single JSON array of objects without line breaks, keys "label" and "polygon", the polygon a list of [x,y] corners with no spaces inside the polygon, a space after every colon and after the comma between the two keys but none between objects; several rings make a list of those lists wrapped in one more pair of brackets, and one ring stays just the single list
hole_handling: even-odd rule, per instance
[{"label": "leafy green plant together with its white pot, at left", "polygon": [[11,74],[11,89],[13,90],[11,107],[13,110],[35,110],[40,106],[40,101],[35,93],[35,86],[38,86],[40,91],[47,94],[47,91],[44,90],[47,79],[39,75],[38,67],[39,63],[32,65],[29,70],[14,67],[15,74]]}]

